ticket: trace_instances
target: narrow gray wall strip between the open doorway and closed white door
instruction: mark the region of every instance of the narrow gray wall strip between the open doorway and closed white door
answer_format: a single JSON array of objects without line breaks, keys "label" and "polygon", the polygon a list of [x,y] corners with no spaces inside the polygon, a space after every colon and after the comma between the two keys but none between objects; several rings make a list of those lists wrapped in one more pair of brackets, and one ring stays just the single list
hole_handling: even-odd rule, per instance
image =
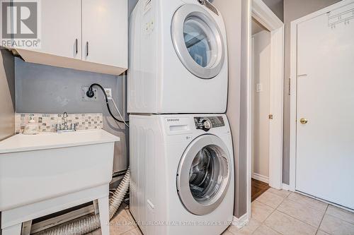
[{"label": "narrow gray wall strip between the open doorway and closed white door", "polygon": [[284,0],[284,23],[285,23],[285,94],[284,94],[284,147],[283,147],[283,183],[289,183],[290,168],[290,23],[292,20],[307,16],[309,13],[335,4],[340,0]]}]

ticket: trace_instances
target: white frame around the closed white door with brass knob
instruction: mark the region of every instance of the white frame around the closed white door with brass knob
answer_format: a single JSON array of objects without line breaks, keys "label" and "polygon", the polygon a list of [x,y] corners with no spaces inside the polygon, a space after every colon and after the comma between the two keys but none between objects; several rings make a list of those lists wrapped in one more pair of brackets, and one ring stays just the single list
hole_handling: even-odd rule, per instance
[{"label": "white frame around the closed white door with brass knob", "polygon": [[296,191],[296,148],[297,148],[297,25],[316,16],[321,16],[336,8],[353,3],[353,0],[343,0],[322,8],[307,16],[292,21],[290,38],[290,191]]}]

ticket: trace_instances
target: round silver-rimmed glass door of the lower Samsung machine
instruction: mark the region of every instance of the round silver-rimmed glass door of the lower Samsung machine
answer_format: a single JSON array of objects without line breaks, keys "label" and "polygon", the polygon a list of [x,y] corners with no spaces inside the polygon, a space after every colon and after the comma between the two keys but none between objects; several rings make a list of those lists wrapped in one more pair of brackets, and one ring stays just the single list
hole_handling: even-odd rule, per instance
[{"label": "round silver-rimmed glass door of the lower Samsung machine", "polygon": [[231,161],[226,145],[215,135],[202,135],[185,150],[177,173],[178,195],[195,215],[215,210],[229,186]]}]

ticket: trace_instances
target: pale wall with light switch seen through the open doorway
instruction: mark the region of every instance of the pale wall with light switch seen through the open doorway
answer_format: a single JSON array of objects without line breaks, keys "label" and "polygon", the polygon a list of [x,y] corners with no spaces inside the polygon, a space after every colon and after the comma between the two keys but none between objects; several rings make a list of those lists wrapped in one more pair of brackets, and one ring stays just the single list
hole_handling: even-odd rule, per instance
[{"label": "pale wall with light switch seen through the open doorway", "polygon": [[[269,176],[270,32],[252,36],[252,173]],[[262,86],[256,91],[257,84]]]}]

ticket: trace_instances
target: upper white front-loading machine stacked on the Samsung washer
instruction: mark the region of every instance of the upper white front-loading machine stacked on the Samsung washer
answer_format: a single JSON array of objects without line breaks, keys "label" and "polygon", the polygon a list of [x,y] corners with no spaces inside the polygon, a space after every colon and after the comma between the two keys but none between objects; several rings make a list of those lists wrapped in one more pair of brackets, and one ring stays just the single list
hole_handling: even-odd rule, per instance
[{"label": "upper white front-loading machine stacked on the Samsung washer", "polygon": [[207,0],[140,0],[130,16],[128,112],[224,113],[224,21]]}]

